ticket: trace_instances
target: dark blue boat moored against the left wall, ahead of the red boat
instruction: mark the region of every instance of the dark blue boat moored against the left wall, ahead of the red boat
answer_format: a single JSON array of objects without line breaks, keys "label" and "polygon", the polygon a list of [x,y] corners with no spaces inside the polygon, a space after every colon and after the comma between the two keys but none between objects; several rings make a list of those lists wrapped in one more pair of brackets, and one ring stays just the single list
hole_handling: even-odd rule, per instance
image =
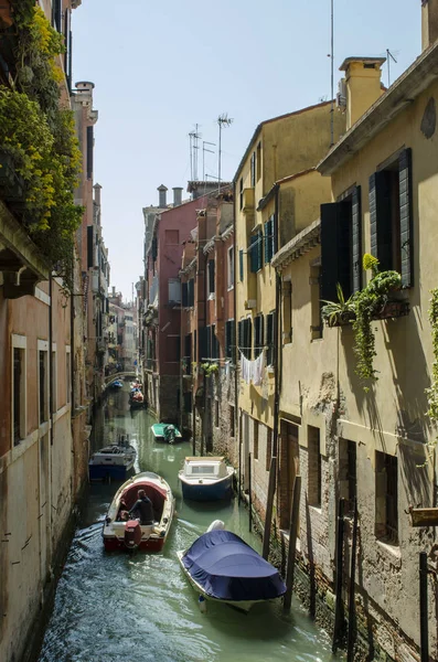
[{"label": "dark blue boat moored against the left wall, ahead of the red boat", "polygon": [[127,437],[118,444],[105,446],[94,452],[88,461],[89,480],[125,480],[127,472],[132,469],[137,450],[130,446]]}]

